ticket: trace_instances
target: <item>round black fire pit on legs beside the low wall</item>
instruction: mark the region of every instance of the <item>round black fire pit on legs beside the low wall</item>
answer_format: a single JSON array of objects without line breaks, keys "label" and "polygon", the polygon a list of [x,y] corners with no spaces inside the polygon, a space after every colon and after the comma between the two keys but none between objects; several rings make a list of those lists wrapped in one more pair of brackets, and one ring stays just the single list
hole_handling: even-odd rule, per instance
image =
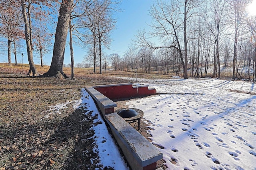
[{"label": "round black fire pit on legs beside the low wall", "polygon": [[138,130],[140,130],[140,119],[144,115],[143,111],[135,108],[122,108],[116,110],[116,113],[126,122],[133,123],[138,121]]}]

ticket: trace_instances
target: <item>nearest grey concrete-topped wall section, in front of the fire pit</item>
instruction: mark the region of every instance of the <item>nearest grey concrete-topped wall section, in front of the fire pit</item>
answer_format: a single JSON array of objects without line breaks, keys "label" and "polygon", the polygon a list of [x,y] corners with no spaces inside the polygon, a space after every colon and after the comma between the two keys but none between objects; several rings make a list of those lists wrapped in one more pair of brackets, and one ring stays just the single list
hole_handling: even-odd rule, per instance
[{"label": "nearest grey concrete-topped wall section, in front of the fire pit", "polygon": [[155,170],[162,153],[117,113],[106,115],[112,134],[132,170]]}]

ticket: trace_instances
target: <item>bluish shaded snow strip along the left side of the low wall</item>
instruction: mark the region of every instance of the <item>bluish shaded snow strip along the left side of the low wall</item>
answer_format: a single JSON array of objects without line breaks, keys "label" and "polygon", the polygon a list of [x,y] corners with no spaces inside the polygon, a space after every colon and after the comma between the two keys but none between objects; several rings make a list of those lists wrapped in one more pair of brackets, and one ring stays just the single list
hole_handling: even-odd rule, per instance
[{"label": "bluish shaded snow strip along the left side of the low wall", "polygon": [[92,97],[85,89],[82,89],[81,95],[82,97],[79,100],[50,106],[50,109],[47,111],[48,114],[45,117],[48,118],[50,115],[62,114],[62,109],[67,108],[68,104],[72,104],[74,109],[83,109],[84,114],[90,113],[92,117],[96,115],[98,118],[94,119],[94,124],[92,125],[92,129],[94,130],[94,136],[92,138],[95,140],[93,151],[98,154],[100,160],[91,159],[90,161],[92,164],[98,164],[98,167],[100,167],[98,170],[104,169],[104,167],[111,167],[114,170],[128,170],[129,168],[124,162],[124,158],[120,155],[114,139],[108,132],[106,124],[99,114]]}]

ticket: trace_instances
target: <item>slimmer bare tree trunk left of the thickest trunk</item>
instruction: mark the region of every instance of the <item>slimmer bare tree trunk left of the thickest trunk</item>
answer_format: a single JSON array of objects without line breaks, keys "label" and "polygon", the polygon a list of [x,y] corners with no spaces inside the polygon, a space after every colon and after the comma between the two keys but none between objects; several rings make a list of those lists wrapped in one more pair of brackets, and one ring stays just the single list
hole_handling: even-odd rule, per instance
[{"label": "slimmer bare tree trunk left of the thickest trunk", "polygon": [[[27,75],[33,75],[33,76],[37,76],[38,72],[37,69],[34,65],[34,61],[33,61],[33,53],[32,53],[32,40],[30,39],[31,35],[30,35],[30,26],[28,23],[28,18],[27,18],[27,13],[26,13],[26,4],[24,4],[24,1],[21,0],[21,6],[22,6],[22,15],[23,15],[23,19],[24,19],[24,24],[25,24],[25,38],[26,38],[26,44],[27,44],[27,53],[28,53],[28,63],[30,66],[30,69],[27,73]],[[28,14],[30,15],[30,14]]]}]

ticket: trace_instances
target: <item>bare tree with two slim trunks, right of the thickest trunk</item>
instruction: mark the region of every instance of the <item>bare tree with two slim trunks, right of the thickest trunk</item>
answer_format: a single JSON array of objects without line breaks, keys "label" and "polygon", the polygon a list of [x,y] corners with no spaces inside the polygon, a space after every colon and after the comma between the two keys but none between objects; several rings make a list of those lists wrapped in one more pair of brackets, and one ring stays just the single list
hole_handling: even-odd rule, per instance
[{"label": "bare tree with two slim trunks, right of the thickest trunk", "polygon": [[113,14],[118,11],[119,3],[117,0],[97,0],[88,6],[87,15],[81,18],[81,25],[88,29],[84,34],[86,38],[84,42],[93,43],[94,73],[96,73],[96,49],[98,48],[100,74],[102,74],[102,45],[105,47],[110,45],[110,31],[116,24]]}]

